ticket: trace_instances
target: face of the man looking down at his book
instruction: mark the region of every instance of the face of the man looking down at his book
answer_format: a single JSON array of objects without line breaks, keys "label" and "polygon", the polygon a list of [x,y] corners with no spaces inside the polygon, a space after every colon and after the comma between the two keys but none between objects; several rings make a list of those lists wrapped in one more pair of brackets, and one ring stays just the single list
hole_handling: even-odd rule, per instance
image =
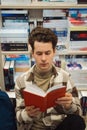
[{"label": "face of the man looking down at his book", "polygon": [[52,43],[38,42],[34,43],[33,57],[36,61],[36,66],[43,72],[48,71],[53,63],[55,50],[52,48]]}]

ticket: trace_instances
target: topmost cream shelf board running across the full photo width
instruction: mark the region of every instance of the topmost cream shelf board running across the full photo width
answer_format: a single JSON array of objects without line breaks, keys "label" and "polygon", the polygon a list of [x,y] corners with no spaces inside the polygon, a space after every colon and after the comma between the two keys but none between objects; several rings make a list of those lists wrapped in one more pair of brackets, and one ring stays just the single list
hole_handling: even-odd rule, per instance
[{"label": "topmost cream shelf board running across the full photo width", "polygon": [[27,5],[0,5],[0,9],[69,9],[87,8],[87,4],[64,2],[32,2]]}]

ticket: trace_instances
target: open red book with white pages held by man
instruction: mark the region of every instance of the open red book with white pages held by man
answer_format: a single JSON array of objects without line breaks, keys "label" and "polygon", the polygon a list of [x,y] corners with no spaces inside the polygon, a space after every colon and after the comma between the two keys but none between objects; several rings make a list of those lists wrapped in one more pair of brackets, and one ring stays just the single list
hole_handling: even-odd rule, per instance
[{"label": "open red book with white pages held by man", "polygon": [[56,99],[63,97],[65,92],[65,86],[53,86],[44,92],[38,86],[31,85],[23,90],[23,96],[26,106],[34,105],[41,111],[45,111],[47,108],[55,106]]}]

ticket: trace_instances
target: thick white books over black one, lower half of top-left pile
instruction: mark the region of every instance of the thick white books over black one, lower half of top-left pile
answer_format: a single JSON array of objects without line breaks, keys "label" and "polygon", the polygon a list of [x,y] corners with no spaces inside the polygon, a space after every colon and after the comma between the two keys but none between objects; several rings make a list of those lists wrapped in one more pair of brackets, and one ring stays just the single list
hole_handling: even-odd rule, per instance
[{"label": "thick white books over black one, lower half of top-left pile", "polygon": [[27,51],[27,29],[0,29],[2,51]]}]

